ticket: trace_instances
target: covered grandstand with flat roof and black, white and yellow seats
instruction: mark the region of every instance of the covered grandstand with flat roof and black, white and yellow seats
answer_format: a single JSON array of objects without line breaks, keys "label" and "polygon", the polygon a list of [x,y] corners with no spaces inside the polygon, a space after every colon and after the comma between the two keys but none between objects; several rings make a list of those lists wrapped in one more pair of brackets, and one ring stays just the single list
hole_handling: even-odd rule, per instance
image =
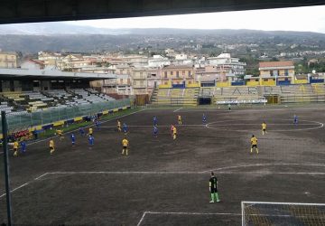
[{"label": "covered grandstand with flat roof and black, white and yellow seats", "polygon": [[114,74],[0,69],[0,78],[0,110],[15,133],[105,115],[131,103],[90,87],[90,81],[114,79]]}]

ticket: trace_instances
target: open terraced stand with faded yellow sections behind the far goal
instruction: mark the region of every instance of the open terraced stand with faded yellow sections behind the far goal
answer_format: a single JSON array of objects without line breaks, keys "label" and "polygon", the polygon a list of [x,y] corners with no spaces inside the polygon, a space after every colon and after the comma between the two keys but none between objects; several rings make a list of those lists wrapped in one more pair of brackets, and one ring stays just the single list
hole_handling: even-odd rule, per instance
[{"label": "open terraced stand with faded yellow sections behind the far goal", "polygon": [[[211,99],[211,103],[263,103],[265,99],[278,99],[270,103],[325,102],[325,84],[297,84],[287,86],[234,86],[186,89],[154,89],[153,105],[195,106],[198,99]],[[201,101],[199,101],[201,103]]]}]

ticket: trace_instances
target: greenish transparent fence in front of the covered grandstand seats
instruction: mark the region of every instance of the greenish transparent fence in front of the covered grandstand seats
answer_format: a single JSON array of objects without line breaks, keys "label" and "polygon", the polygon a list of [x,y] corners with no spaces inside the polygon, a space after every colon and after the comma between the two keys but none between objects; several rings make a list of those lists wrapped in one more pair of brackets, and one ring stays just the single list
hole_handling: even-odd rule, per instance
[{"label": "greenish transparent fence in front of the covered grandstand seats", "polygon": [[[7,114],[9,131],[17,131],[28,127],[35,127],[52,122],[67,120],[83,116],[92,116],[105,110],[123,108],[132,105],[132,99],[116,99],[105,102],[89,103],[79,106],[62,106],[46,108],[32,113]],[[1,118],[1,117],[0,117]],[[2,132],[2,126],[0,125]]]}]

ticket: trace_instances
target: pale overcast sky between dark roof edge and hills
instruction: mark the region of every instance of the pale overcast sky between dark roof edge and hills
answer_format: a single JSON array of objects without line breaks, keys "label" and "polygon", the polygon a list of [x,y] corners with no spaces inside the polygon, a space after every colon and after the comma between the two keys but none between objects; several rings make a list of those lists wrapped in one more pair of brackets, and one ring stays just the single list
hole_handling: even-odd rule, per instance
[{"label": "pale overcast sky between dark roof edge and hills", "polygon": [[253,29],[325,33],[325,5],[67,22],[100,28]]}]

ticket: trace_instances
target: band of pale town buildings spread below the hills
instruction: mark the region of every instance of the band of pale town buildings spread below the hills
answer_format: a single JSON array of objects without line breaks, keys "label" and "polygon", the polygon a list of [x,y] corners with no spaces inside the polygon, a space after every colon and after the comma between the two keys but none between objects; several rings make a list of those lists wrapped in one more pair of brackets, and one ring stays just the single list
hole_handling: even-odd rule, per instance
[{"label": "band of pale town buildings spread below the hills", "polygon": [[[309,64],[318,63],[311,59]],[[0,52],[0,68],[30,71],[70,71],[112,74],[114,79],[95,80],[91,87],[115,98],[134,95],[149,95],[158,86],[215,87],[240,85],[285,85],[310,83],[323,80],[324,71],[301,73],[291,61],[260,61],[255,71],[248,74],[246,62],[224,52],[217,56],[198,56],[165,49],[163,55],[144,54],[64,54],[38,52],[35,59],[18,62],[16,52]],[[252,70],[251,70],[252,71]]]}]

